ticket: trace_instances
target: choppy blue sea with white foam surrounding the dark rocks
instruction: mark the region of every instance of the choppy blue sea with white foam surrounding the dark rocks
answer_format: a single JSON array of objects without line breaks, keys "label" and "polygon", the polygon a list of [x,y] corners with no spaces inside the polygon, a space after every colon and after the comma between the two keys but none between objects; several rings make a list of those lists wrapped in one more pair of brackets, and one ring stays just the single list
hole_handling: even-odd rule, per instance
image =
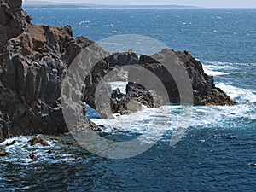
[{"label": "choppy blue sea with white foam surrounding the dark rocks", "polygon": [[[113,160],[91,154],[73,137],[41,136],[48,147],[29,146],[31,137],[0,143],[0,191],[255,191],[256,189],[256,9],[26,9],[32,22],[73,27],[73,36],[94,41],[137,34],[169,48],[189,50],[215,84],[237,102],[232,107],[193,106],[182,139],[170,138],[183,105],[99,119],[104,137],[119,141],[150,128],[164,134],[143,154]],[[147,52],[147,48],[145,48]],[[113,87],[124,89],[125,84]],[[113,131],[114,130],[114,131]],[[12,146],[6,143],[16,140]],[[49,154],[49,150],[52,152]],[[28,158],[30,153],[38,160]]]}]

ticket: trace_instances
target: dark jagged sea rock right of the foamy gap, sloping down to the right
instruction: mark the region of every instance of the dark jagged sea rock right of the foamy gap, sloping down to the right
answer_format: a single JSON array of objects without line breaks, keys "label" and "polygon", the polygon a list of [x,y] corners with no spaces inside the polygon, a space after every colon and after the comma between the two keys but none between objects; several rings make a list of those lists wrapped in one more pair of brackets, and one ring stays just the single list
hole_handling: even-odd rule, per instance
[{"label": "dark jagged sea rock right of the foamy gap, sloping down to the right", "polygon": [[[124,58],[125,55],[126,58]],[[230,99],[230,96],[215,86],[213,77],[204,72],[201,62],[195,60],[188,51],[180,52],[163,49],[152,56],[141,55],[139,59],[137,55],[129,52],[111,55],[115,60],[112,59],[110,61],[114,61],[115,65],[122,67],[129,65],[126,63],[137,61],[138,64],[133,64],[129,68],[128,81],[134,83],[143,82],[143,84],[148,85],[146,89],[139,84],[129,83],[126,86],[126,94],[120,93],[119,90],[114,90],[111,97],[113,113],[131,113],[142,108],[142,105],[148,108],[154,108],[166,102],[181,102],[181,91],[179,89],[184,89],[184,87],[179,87],[178,89],[177,81],[185,81],[185,79],[182,78],[182,73],[177,75],[180,76],[179,78],[177,76],[176,79],[172,77],[172,74],[180,71],[178,66],[175,66],[173,62],[168,63],[168,65],[172,65],[172,67],[169,67],[169,69],[171,68],[170,71],[162,64],[165,58],[168,58],[168,55],[174,55],[173,57],[177,59],[178,63],[184,68],[186,75],[189,76],[192,98],[184,103],[218,106],[236,104],[236,102]],[[159,59],[156,60],[156,58]],[[147,75],[148,72],[151,72],[149,78]],[[155,77],[160,79],[161,84],[164,85],[163,88],[160,88],[159,84],[155,84]]]}]

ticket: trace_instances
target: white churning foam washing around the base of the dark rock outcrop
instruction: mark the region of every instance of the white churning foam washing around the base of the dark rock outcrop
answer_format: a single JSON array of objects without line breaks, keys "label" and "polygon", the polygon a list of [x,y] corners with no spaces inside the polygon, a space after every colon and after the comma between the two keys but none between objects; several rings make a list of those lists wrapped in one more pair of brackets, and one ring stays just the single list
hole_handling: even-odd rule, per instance
[{"label": "white churning foam washing around the base of the dark rock outcrop", "polygon": [[[112,87],[119,89],[125,88],[124,82],[113,82]],[[222,127],[227,121],[239,119],[256,119],[256,90],[247,90],[236,88],[229,84],[219,83],[217,87],[224,90],[231,99],[237,102],[235,106],[193,106],[193,113],[187,117],[189,124],[183,124],[182,114],[187,110],[185,105],[168,105],[160,108],[144,108],[137,113],[130,115],[114,114],[113,119],[91,119],[97,125],[108,127],[106,132],[129,131],[131,133],[144,134],[150,137],[159,136],[157,133],[165,131],[175,131],[177,125],[185,125],[184,129],[189,127]],[[155,137],[155,139],[159,139]]]}]

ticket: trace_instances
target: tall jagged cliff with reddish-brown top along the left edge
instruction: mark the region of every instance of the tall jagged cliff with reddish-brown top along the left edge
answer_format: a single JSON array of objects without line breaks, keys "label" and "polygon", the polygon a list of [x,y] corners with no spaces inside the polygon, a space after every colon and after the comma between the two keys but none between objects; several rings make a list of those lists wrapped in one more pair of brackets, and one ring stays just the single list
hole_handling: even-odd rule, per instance
[{"label": "tall jagged cliff with reddish-brown top along the left edge", "polygon": [[0,142],[20,134],[68,131],[61,81],[75,56],[93,42],[73,38],[70,26],[30,24],[21,0],[1,0],[0,9]]}]

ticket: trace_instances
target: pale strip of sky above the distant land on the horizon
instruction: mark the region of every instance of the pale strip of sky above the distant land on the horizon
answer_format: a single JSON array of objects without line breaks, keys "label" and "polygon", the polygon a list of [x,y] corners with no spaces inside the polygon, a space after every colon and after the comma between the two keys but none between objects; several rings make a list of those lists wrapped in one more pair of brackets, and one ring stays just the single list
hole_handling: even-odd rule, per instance
[{"label": "pale strip of sky above the distant land on the horizon", "polygon": [[130,5],[188,5],[207,8],[256,8],[256,0],[23,0],[25,3],[95,3],[95,4],[130,4]]}]

